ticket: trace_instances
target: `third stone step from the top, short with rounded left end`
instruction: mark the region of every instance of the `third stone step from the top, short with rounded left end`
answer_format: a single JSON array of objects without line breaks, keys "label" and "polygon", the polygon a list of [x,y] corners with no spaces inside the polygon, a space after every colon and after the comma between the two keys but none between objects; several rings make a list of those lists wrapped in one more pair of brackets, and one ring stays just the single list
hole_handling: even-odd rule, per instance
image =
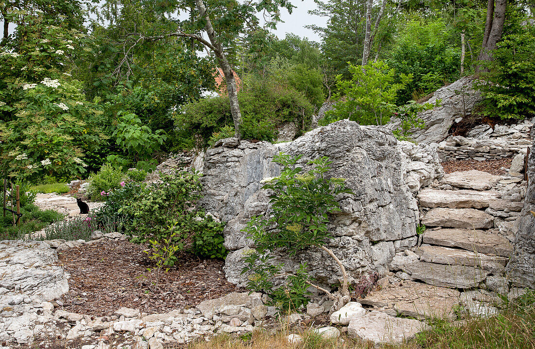
[{"label": "third stone step from the top, short with rounded left end", "polygon": [[422,224],[429,227],[490,229],[494,225],[494,217],[474,208],[436,207],[427,212]]}]

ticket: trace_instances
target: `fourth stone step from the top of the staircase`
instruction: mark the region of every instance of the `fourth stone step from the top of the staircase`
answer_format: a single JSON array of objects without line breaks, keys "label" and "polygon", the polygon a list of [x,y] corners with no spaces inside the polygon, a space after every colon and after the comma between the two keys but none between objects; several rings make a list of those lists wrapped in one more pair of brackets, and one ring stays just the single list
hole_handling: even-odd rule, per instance
[{"label": "fourth stone step from the top of the staircase", "polygon": [[424,244],[460,247],[468,251],[510,257],[513,245],[503,236],[477,229],[426,230]]}]

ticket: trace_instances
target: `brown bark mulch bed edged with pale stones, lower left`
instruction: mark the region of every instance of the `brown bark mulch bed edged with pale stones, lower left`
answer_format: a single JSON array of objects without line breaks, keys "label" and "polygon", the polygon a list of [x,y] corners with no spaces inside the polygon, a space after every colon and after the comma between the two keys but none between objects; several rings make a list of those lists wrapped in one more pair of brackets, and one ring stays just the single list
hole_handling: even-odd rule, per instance
[{"label": "brown bark mulch bed edged with pale stones, lower left", "polygon": [[60,252],[58,265],[71,275],[63,309],[94,316],[110,316],[120,307],[164,313],[244,291],[226,281],[223,260],[190,254],[162,272],[155,288],[156,274],[147,270],[154,265],[143,250],[146,245],[102,241]]}]

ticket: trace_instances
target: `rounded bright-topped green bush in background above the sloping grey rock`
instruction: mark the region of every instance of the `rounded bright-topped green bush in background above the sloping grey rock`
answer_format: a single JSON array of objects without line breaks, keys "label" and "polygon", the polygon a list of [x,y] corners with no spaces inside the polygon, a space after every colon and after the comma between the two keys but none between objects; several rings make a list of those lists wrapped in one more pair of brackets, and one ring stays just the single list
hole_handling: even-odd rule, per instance
[{"label": "rounded bright-topped green bush in background above the sloping grey rock", "polygon": [[397,103],[427,95],[458,78],[461,52],[452,34],[441,18],[404,24],[387,61],[395,69],[395,82],[402,83],[403,75],[414,79],[399,90]]}]

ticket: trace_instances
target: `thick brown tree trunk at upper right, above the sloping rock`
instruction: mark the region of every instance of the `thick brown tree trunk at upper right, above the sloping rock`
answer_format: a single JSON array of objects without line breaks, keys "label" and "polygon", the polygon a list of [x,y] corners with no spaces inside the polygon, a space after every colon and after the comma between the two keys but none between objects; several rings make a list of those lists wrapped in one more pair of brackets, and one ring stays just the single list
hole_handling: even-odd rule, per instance
[{"label": "thick brown tree trunk at upper right, above the sloping rock", "polygon": [[[496,4],[492,0],[488,0],[487,4],[487,20],[485,22],[485,33],[483,36],[483,45],[479,53],[478,60],[491,61],[492,51],[496,48],[496,43],[500,41],[503,33],[503,24],[505,24],[505,11],[507,7],[507,0],[496,0]],[[493,13],[492,13],[492,12]],[[478,65],[476,72],[485,71],[482,65]]]}]

